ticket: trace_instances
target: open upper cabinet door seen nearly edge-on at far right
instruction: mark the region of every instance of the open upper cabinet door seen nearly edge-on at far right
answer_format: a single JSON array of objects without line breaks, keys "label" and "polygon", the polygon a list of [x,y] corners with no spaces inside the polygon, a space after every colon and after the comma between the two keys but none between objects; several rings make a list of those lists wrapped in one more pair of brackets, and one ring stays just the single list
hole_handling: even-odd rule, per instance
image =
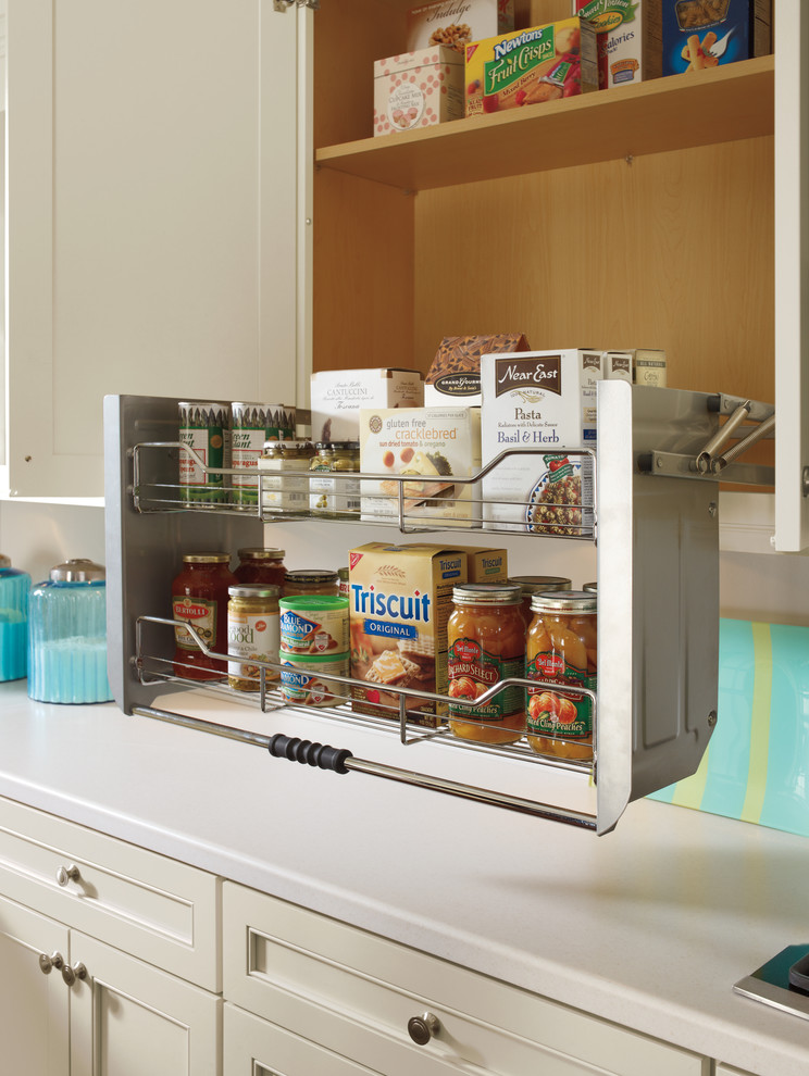
[{"label": "open upper cabinet door seen nearly edge-on at far right", "polygon": [[809,10],[776,0],[773,15],[775,546],[791,551],[809,547]]}]

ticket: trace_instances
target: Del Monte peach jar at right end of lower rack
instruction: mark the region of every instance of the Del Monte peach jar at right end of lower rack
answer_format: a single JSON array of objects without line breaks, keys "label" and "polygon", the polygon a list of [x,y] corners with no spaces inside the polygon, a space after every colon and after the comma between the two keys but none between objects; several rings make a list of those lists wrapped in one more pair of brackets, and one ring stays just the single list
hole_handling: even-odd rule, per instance
[{"label": "Del Monte peach jar at right end of lower rack", "polygon": [[[533,598],[526,672],[530,680],[596,690],[598,600],[583,590]],[[593,758],[593,702],[576,691],[528,688],[526,733],[537,754]]]}]

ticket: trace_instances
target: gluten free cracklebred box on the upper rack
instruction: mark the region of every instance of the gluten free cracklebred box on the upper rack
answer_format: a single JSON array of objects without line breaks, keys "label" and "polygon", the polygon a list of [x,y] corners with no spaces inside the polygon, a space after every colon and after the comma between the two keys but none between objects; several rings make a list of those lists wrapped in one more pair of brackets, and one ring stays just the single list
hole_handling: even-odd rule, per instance
[{"label": "gluten free cracklebred box on the upper rack", "polygon": [[[360,471],[390,475],[362,479],[363,520],[395,520],[399,487],[410,518],[481,525],[480,483],[459,485],[481,466],[480,408],[363,408],[360,412]],[[423,479],[399,483],[394,475]]]}]

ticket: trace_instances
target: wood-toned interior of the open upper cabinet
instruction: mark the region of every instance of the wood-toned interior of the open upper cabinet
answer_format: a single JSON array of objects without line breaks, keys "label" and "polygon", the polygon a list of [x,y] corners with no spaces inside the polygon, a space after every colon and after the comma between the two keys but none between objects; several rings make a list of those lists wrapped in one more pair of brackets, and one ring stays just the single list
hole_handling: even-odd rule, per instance
[{"label": "wood-toned interior of the open upper cabinet", "polygon": [[[368,139],[373,159],[403,137],[451,159],[458,136],[469,151],[466,121],[371,140],[372,64],[401,51],[407,7],[340,0],[315,16],[314,368],[426,371],[444,336],[520,330],[537,350],[662,348],[673,388],[773,400],[772,60],[717,68],[707,89],[683,75],[555,102],[545,125],[540,109],[523,127],[508,117],[480,137],[498,172],[509,145],[521,160],[525,139],[548,139],[550,153],[568,105],[573,159],[587,160],[618,95],[647,99],[590,163],[413,191],[365,178],[344,145]],[[560,17],[555,0],[525,12]],[[681,104],[693,137],[667,134]]]}]

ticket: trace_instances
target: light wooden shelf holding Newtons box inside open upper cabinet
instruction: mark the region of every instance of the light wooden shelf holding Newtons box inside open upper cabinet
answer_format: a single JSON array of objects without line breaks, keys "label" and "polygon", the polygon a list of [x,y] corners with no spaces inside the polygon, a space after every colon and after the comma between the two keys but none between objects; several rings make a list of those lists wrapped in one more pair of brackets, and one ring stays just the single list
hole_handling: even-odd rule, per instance
[{"label": "light wooden shelf holding Newtons box inside open upper cabinet", "polygon": [[315,162],[416,191],[772,135],[774,67],[773,57],[760,57],[534,110],[326,146]]}]

